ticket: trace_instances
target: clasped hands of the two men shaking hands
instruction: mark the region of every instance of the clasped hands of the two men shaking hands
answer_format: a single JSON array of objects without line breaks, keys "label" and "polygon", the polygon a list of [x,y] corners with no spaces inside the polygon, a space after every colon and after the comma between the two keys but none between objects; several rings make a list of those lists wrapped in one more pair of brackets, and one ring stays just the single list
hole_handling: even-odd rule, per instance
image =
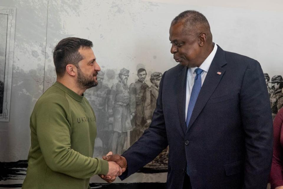
[{"label": "clasped hands of the two men shaking hands", "polygon": [[116,177],[122,175],[122,173],[127,168],[127,160],[125,157],[120,156],[118,154],[114,154],[112,152],[108,152],[106,156],[102,157],[103,160],[108,161],[108,173],[107,175],[99,175],[103,180],[108,183],[112,183]]}]

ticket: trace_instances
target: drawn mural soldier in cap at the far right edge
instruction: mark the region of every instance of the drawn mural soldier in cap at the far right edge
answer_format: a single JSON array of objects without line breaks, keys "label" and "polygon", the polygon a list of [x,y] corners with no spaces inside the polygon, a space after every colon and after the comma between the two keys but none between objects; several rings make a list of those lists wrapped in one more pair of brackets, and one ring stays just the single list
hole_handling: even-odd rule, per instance
[{"label": "drawn mural soldier in cap at the far right edge", "polygon": [[283,105],[283,78],[281,75],[274,75],[270,83],[272,83],[271,88],[273,90],[270,95],[270,105],[272,111],[272,118],[274,119],[275,115]]}]

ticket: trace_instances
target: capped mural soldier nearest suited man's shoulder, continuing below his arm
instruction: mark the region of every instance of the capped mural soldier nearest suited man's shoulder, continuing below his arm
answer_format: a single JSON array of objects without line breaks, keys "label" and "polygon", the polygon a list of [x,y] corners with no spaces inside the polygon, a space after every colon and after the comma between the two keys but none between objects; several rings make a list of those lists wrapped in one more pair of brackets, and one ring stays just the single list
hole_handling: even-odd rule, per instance
[{"label": "capped mural soldier nearest suited man's shoulder, continuing below his arm", "polygon": [[[145,94],[145,102],[144,102],[144,116],[147,120],[147,127],[151,123],[152,114],[156,108],[156,100],[159,92],[159,83],[162,77],[162,73],[154,72],[150,76],[150,82],[152,86],[147,89]],[[168,164],[168,155],[169,155],[169,147],[164,149],[152,162],[150,162],[145,167],[151,168],[167,168]]]}]

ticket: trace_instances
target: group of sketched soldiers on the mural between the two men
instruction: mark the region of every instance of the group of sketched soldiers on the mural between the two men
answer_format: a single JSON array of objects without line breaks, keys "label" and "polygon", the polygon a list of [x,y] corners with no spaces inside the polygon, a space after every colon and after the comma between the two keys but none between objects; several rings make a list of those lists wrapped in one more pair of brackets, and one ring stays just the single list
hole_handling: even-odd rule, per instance
[{"label": "group of sketched soldiers on the mural between the two men", "polygon": [[[156,107],[160,72],[150,72],[139,68],[135,82],[129,84],[130,70],[122,68],[119,73],[106,70],[98,73],[98,86],[85,92],[96,114],[98,139],[101,144],[96,152],[101,155],[112,151],[122,154],[143,134],[151,123],[153,111]],[[117,83],[109,87],[104,77],[119,78]],[[146,82],[149,80],[149,84]],[[144,167],[141,172],[166,172],[169,148]]]}]

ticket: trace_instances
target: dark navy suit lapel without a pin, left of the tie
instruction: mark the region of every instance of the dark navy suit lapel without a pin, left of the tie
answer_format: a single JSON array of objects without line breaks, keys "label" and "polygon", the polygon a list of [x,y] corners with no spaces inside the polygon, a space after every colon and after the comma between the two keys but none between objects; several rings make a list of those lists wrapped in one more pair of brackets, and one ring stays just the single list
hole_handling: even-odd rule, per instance
[{"label": "dark navy suit lapel without a pin, left of the tie", "polygon": [[[185,134],[187,129],[185,121],[187,72],[188,69],[186,67],[182,67],[177,77],[177,108],[181,123],[181,132],[183,134]],[[178,129],[180,128],[178,127]]]}]

